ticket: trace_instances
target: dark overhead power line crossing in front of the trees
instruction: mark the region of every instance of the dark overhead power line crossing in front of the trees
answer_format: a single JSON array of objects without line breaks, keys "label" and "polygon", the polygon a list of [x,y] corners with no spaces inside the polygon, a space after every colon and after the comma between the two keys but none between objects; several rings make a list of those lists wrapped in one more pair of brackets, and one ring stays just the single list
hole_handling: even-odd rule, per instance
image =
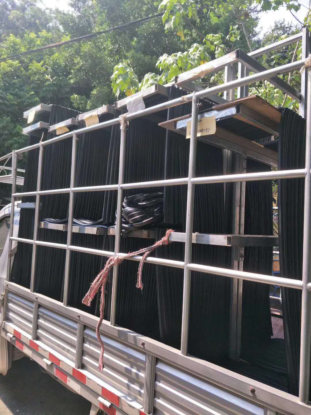
[{"label": "dark overhead power line crossing in front of the trees", "polygon": [[[197,0],[197,4],[208,4],[208,3],[216,3],[216,1],[214,0]],[[28,51],[24,51],[18,54],[12,54],[12,55],[7,55],[7,56],[3,56],[2,58],[0,58],[0,62],[6,61],[7,59],[18,59],[22,56],[27,56],[30,54],[34,54],[34,53],[38,53],[41,51],[45,51],[46,49],[52,49],[52,48],[57,48],[63,45],[67,45],[73,42],[80,42],[86,39],[91,39],[92,37],[95,36],[99,36],[100,34],[104,34],[104,33],[109,33],[112,32],[114,30],[117,29],[123,29],[124,27],[129,27],[129,26],[134,26],[136,24],[140,24],[143,22],[148,22],[150,20],[154,20],[157,19],[158,17],[162,17],[163,16],[163,12],[162,13],[157,13],[156,15],[152,15],[152,16],[148,16],[148,17],[143,17],[142,19],[138,19],[138,20],[134,20],[132,22],[128,22],[128,23],[124,23],[124,24],[120,24],[119,26],[115,26],[115,27],[111,27],[110,29],[105,29],[105,30],[101,30],[100,32],[93,32],[90,34],[85,34],[84,36],[80,36],[80,37],[75,37],[74,39],[69,39],[69,40],[65,40],[62,42],[57,42],[57,43],[52,43],[46,46],[41,46],[40,48],[36,48],[36,49],[29,49]]]}]

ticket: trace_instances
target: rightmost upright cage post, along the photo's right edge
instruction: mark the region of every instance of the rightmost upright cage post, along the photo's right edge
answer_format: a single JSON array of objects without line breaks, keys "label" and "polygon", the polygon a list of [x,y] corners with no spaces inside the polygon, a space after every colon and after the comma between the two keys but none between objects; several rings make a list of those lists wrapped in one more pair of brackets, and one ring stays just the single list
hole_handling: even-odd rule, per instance
[{"label": "rightmost upright cage post, along the photo's right edge", "polygon": [[[309,91],[311,91],[311,68],[307,70]],[[311,349],[311,293],[307,284],[311,282],[311,94],[307,98],[306,120],[306,178],[304,181],[304,242],[302,260],[302,302],[301,302],[301,340],[299,400],[309,402],[310,349]]]}]

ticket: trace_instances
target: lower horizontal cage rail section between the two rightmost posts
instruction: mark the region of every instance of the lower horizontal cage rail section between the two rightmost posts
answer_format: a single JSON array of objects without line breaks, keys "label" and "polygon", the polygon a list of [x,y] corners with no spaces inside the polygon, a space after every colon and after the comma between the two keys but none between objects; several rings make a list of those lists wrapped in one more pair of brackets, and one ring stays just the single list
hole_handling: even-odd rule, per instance
[{"label": "lower horizontal cage rail section between the two rightmost posts", "polygon": [[204,272],[213,275],[222,275],[229,278],[241,278],[246,281],[254,281],[264,284],[275,284],[281,287],[296,288],[302,290],[303,283],[301,280],[294,280],[292,278],[274,277],[271,275],[255,274],[253,272],[237,271],[234,269],[219,268],[216,266],[201,265],[201,264],[189,264],[188,269],[197,272]]}]

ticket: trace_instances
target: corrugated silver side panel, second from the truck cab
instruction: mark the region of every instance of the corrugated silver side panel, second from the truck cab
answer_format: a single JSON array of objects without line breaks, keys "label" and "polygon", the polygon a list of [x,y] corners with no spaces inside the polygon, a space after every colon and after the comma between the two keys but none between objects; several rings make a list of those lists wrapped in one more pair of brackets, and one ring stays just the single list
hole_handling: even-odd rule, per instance
[{"label": "corrugated silver side panel, second from the truck cab", "polygon": [[39,306],[37,340],[75,361],[77,323]]}]

